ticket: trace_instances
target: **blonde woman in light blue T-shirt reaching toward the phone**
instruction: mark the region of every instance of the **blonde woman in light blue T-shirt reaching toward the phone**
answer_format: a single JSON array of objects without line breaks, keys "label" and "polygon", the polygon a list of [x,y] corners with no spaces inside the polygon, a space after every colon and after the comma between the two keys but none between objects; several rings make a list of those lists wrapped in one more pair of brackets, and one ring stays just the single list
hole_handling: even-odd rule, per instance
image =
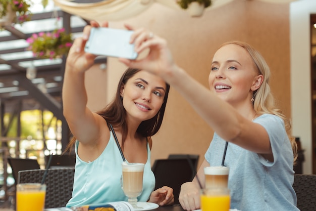
[{"label": "blonde woman in light blue T-shirt reaching toward the phone", "polygon": [[[296,144],[289,136],[288,119],[274,106],[264,58],[246,43],[223,44],[210,67],[208,90],[174,62],[165,39],[138,29],[131,42],[138,53],[149,48],[148,56],[120,60],[164,78],[215,131],[196,176],[202,186],[203,168],[221,165],[228,142],[224,165],[230,168],[232,209],[298,210],[292,187]],[[196,178],[183,184],[182,207],[200,208],[199,192]]]}]

